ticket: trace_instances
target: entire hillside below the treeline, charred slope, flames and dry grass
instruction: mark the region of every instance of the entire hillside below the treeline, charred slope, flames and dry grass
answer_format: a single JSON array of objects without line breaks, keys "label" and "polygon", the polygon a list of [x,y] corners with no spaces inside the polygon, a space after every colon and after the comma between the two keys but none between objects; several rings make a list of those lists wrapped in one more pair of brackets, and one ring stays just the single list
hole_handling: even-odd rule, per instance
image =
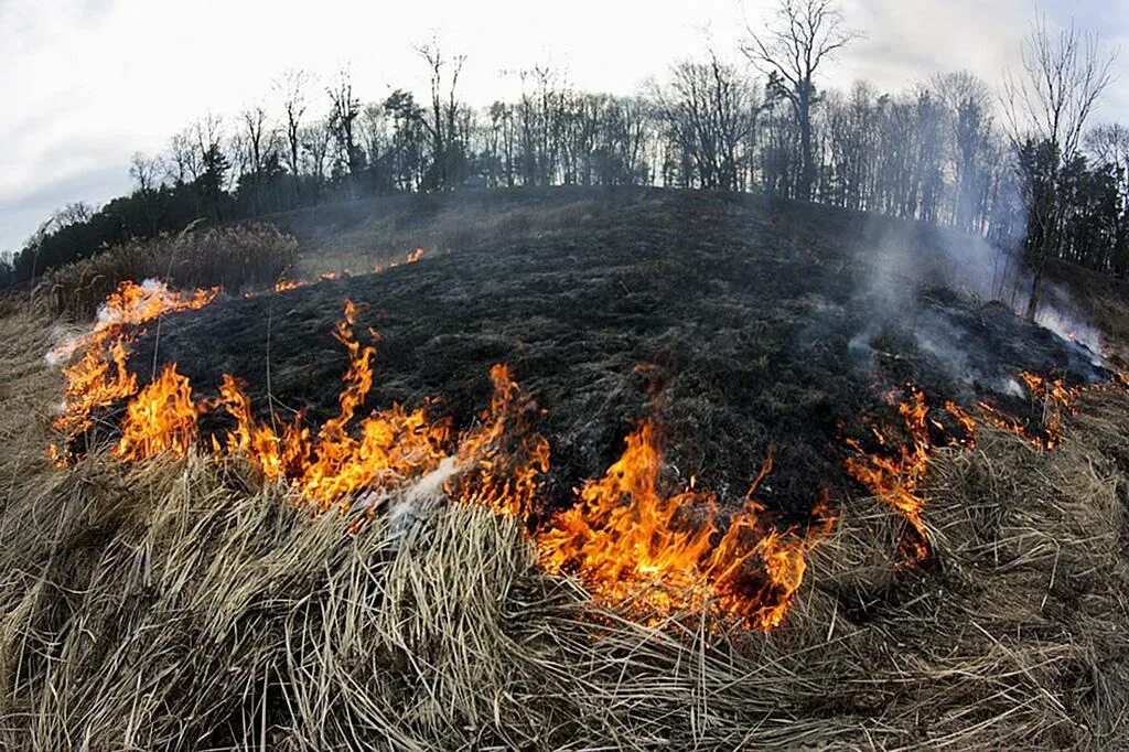
[{"label": "entire hillside below the treeline, charred slope, flames and dry grass", "polygon": [[[1129,743],[1120,283],[1057,270],[1071,340],[973,238],[703,192],[270,220],[308,283],[141,320],[67,467],[60,331],[3,317],[3,743]],[[173,364],[184,443],[123,452]]]}]

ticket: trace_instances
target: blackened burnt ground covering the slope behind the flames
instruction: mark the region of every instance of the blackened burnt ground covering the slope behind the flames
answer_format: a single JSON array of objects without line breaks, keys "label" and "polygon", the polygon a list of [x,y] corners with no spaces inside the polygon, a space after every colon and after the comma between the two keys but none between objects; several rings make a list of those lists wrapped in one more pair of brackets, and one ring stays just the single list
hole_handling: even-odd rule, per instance
[{"label": "blackened burnt ground covering the slope behind the flames", "polygon": [[[671,473],[734,502],[774,444],[759,498],[789,511],[821,488],[860,490],[841,470],[842,435],[864,434],[861,416],[890,414],[891,385],[913,382],[931,404],[988,399],[1025,414],[1026,400],[1007,395],[1021,370],[1102,377],[1084,348],[937,285],[952,279],[947,250],[971,238],[754,196],[483,195],[402,199],[396,221],[426,225],[445,202],[584,203],[544,231],[472,235],[384,273],[167,317],[157,362],[176,361],[203,393],[238,375],[260,409],[269,373],[279,403],[320,421],[336,404],[347,358],[331,331],[351,298],[368,306],[358,331],[380,334],[369,406],[436,395],[465,427],[489,403],[491,364],[513,366],[544,409],[550,505],[567,504],[616,458],[632,422],[655,414]],[[141,373],[156,341],[137,347]]]}]

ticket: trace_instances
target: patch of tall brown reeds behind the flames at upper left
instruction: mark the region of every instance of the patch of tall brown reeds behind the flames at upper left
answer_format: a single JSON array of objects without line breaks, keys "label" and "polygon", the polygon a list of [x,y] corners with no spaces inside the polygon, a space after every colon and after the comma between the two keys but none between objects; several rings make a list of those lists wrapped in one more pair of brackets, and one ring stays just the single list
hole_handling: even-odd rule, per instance
[{"label": "patch of tall brown reeds behind the flames at upper left", "polygon": [[298,260],[298,243],[265,224],[130,241],[53,270],[38,286],[51,309],[88,320],[122,280],[161,279],[177,289],[270,286]]}]

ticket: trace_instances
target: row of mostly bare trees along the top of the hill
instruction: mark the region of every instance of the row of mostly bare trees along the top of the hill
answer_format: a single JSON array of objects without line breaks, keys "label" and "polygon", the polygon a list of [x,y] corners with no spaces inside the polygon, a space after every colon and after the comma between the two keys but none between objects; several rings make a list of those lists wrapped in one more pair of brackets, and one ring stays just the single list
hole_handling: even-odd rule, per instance
[{"label": "row of mostly bare trees along the top of the hill", "polygon": [[[1025,248],[1040,268],[1057,255],[1129,273],[1129,130],[1083,133],[1083,112],[1074,123],[1079,138],[1070,141],[1040,129],[1040,113],[1022,112],[1023,100],[1001,107],[994,89],[968,72],[936,76],[900,95],[866,82],[846,93],[820,89],[819,64],[855,35],[842,30],[831,0],[786,0],[778,20],[789,12],[815,30],[789,38],[781,23],[763,35],[751,32],[738,62],[709,52],[634,96],[579,91],[560,72],[535,68],[522,73],[516,100],[478,108],[458,96],[464,59],[435,44],[419,50],[430,78],[423,97],[397,89],[365,102],[348,71],[329,86],[290,72],[275,82],[270,105],[203,117],[164,154],[137,155],[130,195],[56,213],[16,255],[8,278],[24,281],[199,218],[220,222],[377,194],[526,185],[761,192],[982,234]],[[1038,34],[1054,43],[1036,24],[1024,59],[1033,87],[1039,60],[1026,54],[1038,51]],[[797,49],[814,54],[790,55]],[[1091,84],[1101,84],[1096,99],[1105,81]],[[1025,115],[1036,124],[1024,125]]]}]

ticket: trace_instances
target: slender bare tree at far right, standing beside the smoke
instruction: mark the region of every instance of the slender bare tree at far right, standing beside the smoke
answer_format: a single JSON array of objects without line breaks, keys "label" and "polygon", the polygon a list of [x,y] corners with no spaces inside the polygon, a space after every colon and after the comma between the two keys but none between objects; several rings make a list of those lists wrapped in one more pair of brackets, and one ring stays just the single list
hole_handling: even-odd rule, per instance
[{"label": "slender bare tree at far right, standing beside the smoke", "polygon": [[1026,311],[1031,321],[1039,311],[1043,272],[1057,247],[1065,215],[1059,175],[1078,154],[1086,120],[1112,80],[1115,59],[1115,51],[1099,51],[1096,34],[1080,32],[1074,21],[1052,33],[1045,16],[1040,15],[1023,43],[1023,75],[1004,79],[1004,111],[1013,145],[1019,149],[1033,142],[1051,155],[1049,174],[1041,176],[1045,185],[1029,196],[1031,219],[1039,231]]}]

